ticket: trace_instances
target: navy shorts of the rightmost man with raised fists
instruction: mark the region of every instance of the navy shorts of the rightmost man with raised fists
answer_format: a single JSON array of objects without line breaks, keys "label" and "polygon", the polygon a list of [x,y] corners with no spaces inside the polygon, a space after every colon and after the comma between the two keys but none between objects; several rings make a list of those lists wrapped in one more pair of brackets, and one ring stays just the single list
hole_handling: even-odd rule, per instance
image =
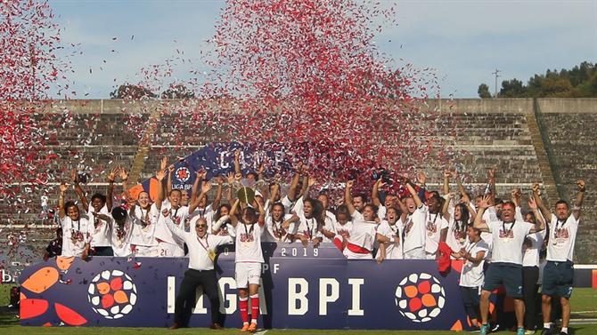
[{"label": "navy shorts of the rightmost man with raised fists", "polygon": [[548,296],[558,296],[569,299],[572,295],[574,282],[574,263],[554,262],[548,260],[544,267],[544,277],[541,284],[541,293]]}]

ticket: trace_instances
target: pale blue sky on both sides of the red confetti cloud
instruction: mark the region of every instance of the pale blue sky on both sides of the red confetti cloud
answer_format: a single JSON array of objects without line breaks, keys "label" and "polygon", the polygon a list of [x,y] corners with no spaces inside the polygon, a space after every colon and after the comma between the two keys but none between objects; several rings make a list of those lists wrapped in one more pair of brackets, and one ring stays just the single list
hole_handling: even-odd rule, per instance
[{"label": "pale blue sky on both sides of the red confetti cloud", "polygon": [[[380,0],[384,5],[389,1]],[[176,67],[207,69],[200,52],[215,33],[222,1],[50,0],[71,59],[78,98],[107,99],[116,84],[173,57]],[[478,84],[494,91],[503,79],[597,62],[597,0],[396,1],[397,26],[375,39],[397,65],[433,68],[443,98],[476,98]],[[116,38],[116,39],[114,39]],[[184,54],[183,54],[184,52]],[[499,83],[498,83],[499,85]]]}]

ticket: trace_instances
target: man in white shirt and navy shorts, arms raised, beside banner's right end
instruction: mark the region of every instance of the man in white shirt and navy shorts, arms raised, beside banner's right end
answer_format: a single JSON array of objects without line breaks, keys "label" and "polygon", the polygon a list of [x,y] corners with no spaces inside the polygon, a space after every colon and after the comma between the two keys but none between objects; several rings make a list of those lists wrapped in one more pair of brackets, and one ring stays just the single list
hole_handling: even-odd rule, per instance
[{"label": "man in white shirt and navy shorts, arms raised, beside banner's right end", "polygon": [[516,204],[503,203],[502,219],[485,223],[483,212],[490,206],[490,196],[486,195],[479,203],[474,227],[491,233],[493,238],[492,262],[487,267],[483,289],[481,291],[481,335],[488,332],[487,315],[489,313],[489,296],[491,291],[500,285],[506,289],[506,294],[514,299],[514,311],[519,335],[524,335],[525,303],[522,294],[522,244],[529,233],[544,229],[544,220],[539,217],[539,210],[534,199],[528,203],[536,214],[537,224],[515,219]]}]

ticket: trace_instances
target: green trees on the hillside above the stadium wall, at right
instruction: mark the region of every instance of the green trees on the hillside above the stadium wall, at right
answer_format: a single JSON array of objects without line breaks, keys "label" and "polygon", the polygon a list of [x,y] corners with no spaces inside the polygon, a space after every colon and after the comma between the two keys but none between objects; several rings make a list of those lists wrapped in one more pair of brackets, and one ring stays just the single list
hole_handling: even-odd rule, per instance
[{"label": "green trees on the hillside above the stadium wall, at right", "polygon": [[[481,98],[481,86],[478,94]],[[487,85],[486,85],[487,86]],[[488,92],[488,88],[487,88]],[[548,69],[544,75],[535,75],[523,84],[518,79],[504,80],[498,93],[500,98],[596,98],[597,64],[588,61],[572,69]]]}]

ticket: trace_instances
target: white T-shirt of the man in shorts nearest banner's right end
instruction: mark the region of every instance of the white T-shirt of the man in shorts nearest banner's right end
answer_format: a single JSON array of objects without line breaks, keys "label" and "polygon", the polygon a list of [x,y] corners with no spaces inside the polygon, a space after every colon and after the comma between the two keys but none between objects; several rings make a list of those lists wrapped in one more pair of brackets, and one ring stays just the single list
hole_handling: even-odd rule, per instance
[{"label": "white T-shirt of the man in shorts nearest banner's right end", "polygon": [[533,226],[532,223],[524,221],[515,221],[514,223],[489,222],[487,227],[489,227],[494,241],[491,261],[493,263],[511,263],[521,266],[522,243],[524,243],[525,237]]}]

